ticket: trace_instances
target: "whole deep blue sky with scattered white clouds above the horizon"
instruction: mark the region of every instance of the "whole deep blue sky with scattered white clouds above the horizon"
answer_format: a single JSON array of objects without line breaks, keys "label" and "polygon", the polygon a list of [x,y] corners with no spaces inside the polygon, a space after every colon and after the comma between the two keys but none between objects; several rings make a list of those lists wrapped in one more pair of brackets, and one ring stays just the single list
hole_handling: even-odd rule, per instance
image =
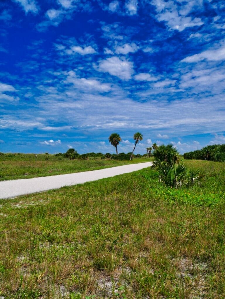
[{"label": "whole deep blue sky with scattered white clouds above the horizon", "polygon": [[224,0],[2,0],[0,151],[225,143],[224,24]]}]

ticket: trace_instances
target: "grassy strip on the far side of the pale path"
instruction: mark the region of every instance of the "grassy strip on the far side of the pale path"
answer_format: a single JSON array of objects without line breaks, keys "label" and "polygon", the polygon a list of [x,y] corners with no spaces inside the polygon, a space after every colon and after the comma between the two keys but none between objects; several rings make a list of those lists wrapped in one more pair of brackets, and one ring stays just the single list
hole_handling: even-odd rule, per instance
[{"label": "grassy strip on the far side of the pale path", "polygon": [[69,160],[68,158],[34,154],[7,154],[0,155],[0,181],[14,179],[30,179],[40,176],[75,173],[115,167],[125,164],[151,161],[149,158],[134,158],[132,161],[111,159]]}]

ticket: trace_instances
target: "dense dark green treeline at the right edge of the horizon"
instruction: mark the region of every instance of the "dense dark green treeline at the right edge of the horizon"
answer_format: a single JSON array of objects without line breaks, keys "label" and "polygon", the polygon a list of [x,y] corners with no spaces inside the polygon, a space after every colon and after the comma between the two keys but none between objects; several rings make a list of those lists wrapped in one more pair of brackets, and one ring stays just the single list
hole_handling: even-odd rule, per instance
[{"label": "dense dark green treeline at the right edge of the horizon", "polygon": [[225,162],[225,144],[208,145],[194,152],[185,152],[184,158]]}]

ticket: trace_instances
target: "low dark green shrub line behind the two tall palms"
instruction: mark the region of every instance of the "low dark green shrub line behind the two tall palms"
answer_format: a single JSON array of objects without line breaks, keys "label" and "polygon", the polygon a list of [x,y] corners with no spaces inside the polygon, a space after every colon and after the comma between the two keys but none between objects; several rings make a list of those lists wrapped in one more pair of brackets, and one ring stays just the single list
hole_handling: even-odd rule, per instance
[{"label": "low dark green shrub line behind the two tall palms", "polygon": [[[58,153],[55,154],[55,156],[61,156],[61,157],[65,157],[65,158],[69,158],[70,160],[74,160],[74,159],[83,159],[83,160],[87,160],[88,158],[92,158],[92,159],[114,159],[114,160],[129,160],[130,156],[131,156],[132,152],[129,152],[127,154],[125,154],[124,152],[121,152],[120,154],[116,155],[116,154],[110,154],[109,152],[107,152],[106,154],[103,154],[102,152],[88,152],[87,154],[78,154],[78,152],[75,149],[68,149],[67,152],[65,153]],[[133,158],[141,158],[141,157],[145,157],[147,156],[147,154],[145,155],[134,155],[133,154]]]}]

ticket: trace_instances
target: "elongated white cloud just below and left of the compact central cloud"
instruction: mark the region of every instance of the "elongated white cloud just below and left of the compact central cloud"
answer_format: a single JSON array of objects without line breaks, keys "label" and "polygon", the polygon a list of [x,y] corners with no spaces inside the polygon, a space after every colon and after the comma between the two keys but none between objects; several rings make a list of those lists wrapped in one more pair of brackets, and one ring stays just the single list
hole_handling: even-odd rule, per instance
[{"label": "elongated white cloud just below and left of the compact central cloud", "polygon": [[111,86],[108,83],[101,83],[95,79],[78,78],[74,71],[69,71],[66,83],[73,83],[78,89],[87,91],[108,92]]}]

